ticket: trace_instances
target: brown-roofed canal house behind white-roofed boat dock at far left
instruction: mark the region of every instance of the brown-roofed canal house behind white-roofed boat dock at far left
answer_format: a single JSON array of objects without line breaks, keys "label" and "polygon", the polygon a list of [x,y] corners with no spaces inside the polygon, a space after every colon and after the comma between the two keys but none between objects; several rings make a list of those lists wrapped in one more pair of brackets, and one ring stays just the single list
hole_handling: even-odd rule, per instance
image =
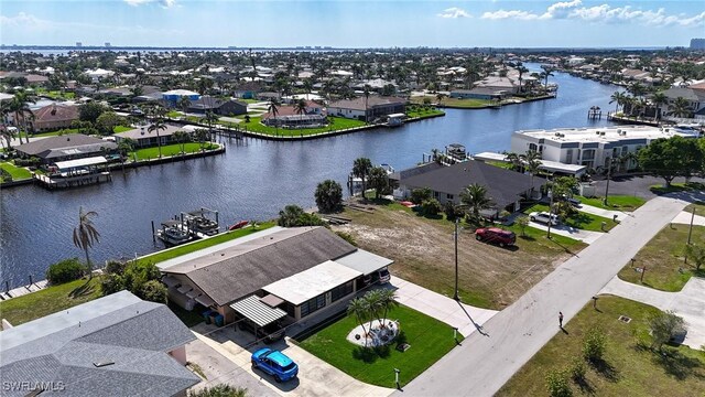
[{"label": "brown-roofed canal house behind white-roofed boat dock at far left", "polygon": [[83,133],[47,137],[14,147],[21,158],[36,157],[42,164],[105,155],[117,150],[115,142]]}]

